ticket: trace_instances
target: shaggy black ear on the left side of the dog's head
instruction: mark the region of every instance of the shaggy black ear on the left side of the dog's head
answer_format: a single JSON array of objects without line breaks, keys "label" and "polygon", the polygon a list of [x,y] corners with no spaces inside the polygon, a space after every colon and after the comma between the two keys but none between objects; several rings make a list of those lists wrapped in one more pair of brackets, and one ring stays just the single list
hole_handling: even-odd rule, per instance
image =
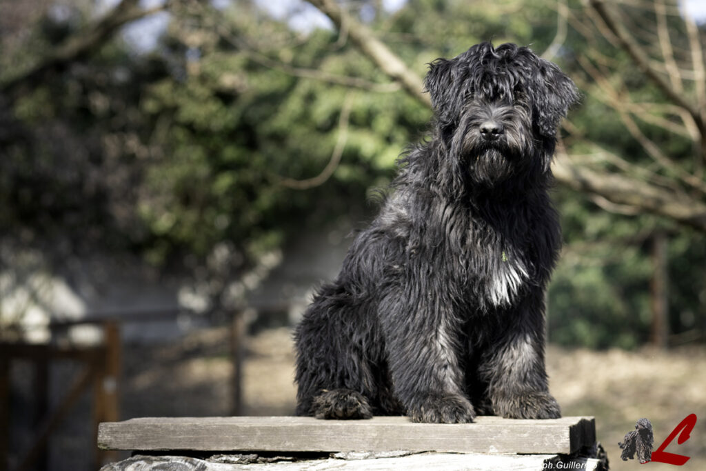
[{"label": "shaggy black ear on the left side of the dog's head", "polygon": [[440,124],[448,125],[455,121],[460,112],[454,83],[453,62],[456,59],[436,59],[429,64],[429,73],[424,78],[424,90],[429,92],[431,107]]}]

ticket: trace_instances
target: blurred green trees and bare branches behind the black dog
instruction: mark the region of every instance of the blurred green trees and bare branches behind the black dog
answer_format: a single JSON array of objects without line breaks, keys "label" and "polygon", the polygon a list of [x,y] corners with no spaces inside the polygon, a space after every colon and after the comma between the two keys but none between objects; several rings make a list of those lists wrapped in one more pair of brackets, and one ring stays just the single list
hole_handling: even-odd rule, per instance
[{"label": "blurred green trees and bare branches behind the black dog", "polygon": [[[392,3],[3,2],[2,243],[139,256],[208,280],[217,307],[294,235],[371,214],[431,118],[427,63],[511,41],[584,93],[554,166],[549,338],[703,340],[704,28],[676,0]],[[154,47],[126,39],[136,22]]]}]

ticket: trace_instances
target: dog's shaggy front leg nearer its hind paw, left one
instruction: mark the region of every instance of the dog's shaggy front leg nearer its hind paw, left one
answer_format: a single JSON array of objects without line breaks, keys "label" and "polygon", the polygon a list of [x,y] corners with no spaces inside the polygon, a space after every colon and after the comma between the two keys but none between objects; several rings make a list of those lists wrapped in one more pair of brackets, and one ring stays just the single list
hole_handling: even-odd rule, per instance
[{"label": "dog's shaggy front leg nearer its hind paw, left one", "polygon": [[472,422],[476,413],[462,393],[457,319],[450,302],[426,293],[400,290],[381,303],[395,395],[414,422]]}]

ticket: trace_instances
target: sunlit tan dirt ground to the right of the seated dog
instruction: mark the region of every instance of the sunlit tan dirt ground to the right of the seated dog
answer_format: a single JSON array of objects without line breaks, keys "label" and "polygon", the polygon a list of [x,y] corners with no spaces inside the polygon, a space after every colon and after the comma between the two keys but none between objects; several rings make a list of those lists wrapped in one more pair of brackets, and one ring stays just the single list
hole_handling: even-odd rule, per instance
[{"label": "sunlit tan dirt ground to the right of the seated dog", "polygon": [[[690,439],[674,439],[669,453],[690,456],[685,470],[706,470],[706,349],[692,347],[654,350],[547,350],[550,390],[563,415],[592,415],[597,438],[610,459],[611,470],[635,470],[635,460],[620,459],[618,442],[647,417],[654,429],[654,448],[689,414],[698,421]],[[674,466],[650,463],[650,470]],[[678,468],[677,468],[678,469]]]}]

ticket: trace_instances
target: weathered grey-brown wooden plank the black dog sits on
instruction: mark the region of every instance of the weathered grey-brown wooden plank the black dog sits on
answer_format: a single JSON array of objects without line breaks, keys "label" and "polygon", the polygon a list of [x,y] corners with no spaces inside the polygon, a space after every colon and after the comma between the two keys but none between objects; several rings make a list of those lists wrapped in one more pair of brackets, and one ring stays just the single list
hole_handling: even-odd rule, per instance
[{"label": "weathered grey-brown wooden plank the black dog sits on", "polygon": [[407,417],[144,417],[100,424],[98,446],[114,450],[436,451],[573,453],[595,441],[593,417],[473,424],[417,424]]}]

